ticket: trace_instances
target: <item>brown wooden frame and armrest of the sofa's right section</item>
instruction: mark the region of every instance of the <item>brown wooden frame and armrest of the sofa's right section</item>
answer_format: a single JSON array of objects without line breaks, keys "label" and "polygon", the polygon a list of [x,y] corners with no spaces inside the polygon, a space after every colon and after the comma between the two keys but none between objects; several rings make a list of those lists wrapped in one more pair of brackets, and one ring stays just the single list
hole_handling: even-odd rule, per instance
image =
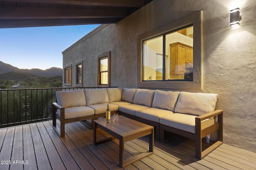
[{"label": "brown wooden frame and armrest of the sofa's right section", "polygon": [[[169,127],[166,125],[162,125],[160,123],[156,123],[153,121],[149,121],[149,120],[146,120],[146,119],[143,119],[140,117],[136,117],[135,115],[130,115],[128,113],[124,113],[121,111],[119,111],[119,114],[129,117],[131,119],[135,119],[142,123],[146,123],[148,125],[154,126],[155,131],[156,131],[155,139],[160,140],[161,142],[166,141],[166,140],[164,140],[164,131],[169,131],[169,132],[175,133],[177,135],[181,135],[184,137],[188,137],[190,139],[194,139],[195,144],[196,144],[196,158],[201,160],[202,158],[204,158],[206,155],[208,155],[210,152],[212,152],[214,149],[216,149],[223,143],[223,113],[222,112],[223,112],[223,110],[215,110],[210,113],[206,113],[204,115],[200,115],[200,116],[196,117],[196,119],[195,119],[195,123],[196,123],[195,134],[187,132],[187,131],[182,131],[180,129],[176,129],[173,127]],[[204,122],[202,122],[203,120],[209,119],[211,117],[214,117],[214,120],[216,121],[216,116],[218,116],[218,122],[214,123],[211,126],[206,126],[204,124]],[[208,147],[207,149],[202,151],[202,138],[206,137],[210,133],[213,133],[214,131],[218,131],[218,141],[216,141],[210,147]]]}]

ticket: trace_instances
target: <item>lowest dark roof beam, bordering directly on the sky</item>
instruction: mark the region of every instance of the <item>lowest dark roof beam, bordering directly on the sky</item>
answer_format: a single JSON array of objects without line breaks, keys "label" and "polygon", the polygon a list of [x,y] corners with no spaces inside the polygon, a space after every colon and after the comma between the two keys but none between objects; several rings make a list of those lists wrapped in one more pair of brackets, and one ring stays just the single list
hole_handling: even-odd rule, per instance
[{"label": "lowest dark roof beam, bordering directly on the sky", "polygon": [[117,18],[0,20],[0,28],[88,25],[116,23],[118,21]]}]

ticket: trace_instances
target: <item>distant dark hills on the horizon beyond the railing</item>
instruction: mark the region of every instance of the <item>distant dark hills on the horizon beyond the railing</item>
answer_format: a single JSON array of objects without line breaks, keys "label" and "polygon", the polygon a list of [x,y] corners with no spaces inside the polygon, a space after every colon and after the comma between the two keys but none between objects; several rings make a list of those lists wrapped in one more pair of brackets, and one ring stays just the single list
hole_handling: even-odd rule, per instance
[{"label": "distant dark hills on the horizon beyond the railing", "polygon": [[[17,74],[20,73],[27,73],[27,75],[31,74],[32,77],[53,77],[53,76],[62,76],[62,68],[52,67],[48,68],[46,70],[41,70],[38,68],[32,68],[32,69],[20,69],[17,67],[14,67],[10,64],[6,64],[2,61],[0,61],[0,75],[4,73],[12,72],[11,74]],[[14,73],[16,72],[16,73]],[[21,74],[24,75],[24,74]]]}]

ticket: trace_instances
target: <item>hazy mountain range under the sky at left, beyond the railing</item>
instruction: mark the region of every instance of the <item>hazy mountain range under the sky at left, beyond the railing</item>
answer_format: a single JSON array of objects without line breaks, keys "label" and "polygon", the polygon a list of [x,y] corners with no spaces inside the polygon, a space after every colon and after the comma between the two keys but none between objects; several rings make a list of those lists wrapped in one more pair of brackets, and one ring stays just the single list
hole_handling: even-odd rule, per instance
[{"label": "hazy mountain range under the sky at left, beyond the railing", "polygon": [[46,70],[39,68],[20,69],[0,61],[0,79],[16,80],[25,77],[53,77],[62,76],[62,68],[51,67]]}]

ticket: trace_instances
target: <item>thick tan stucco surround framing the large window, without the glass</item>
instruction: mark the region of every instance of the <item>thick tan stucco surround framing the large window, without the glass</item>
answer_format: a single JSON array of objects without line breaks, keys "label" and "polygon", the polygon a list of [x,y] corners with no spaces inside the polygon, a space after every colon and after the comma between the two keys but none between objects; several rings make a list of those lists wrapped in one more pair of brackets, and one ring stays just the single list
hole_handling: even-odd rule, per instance
[{"label": "thick tan stucco surround framing the large window, without the glass", "polygon": [[[137,84],[138,88],[160,88],[160,89],[176,89],[188,90],[196,89],[202,90],[202,11],[191,14],[190,16],[181,18],[179,20],[168,23],[164,26],[158,27],[146,33],[138,35],[138,51],[137,51]],[[178,30],[182,27],[193,25],[194,39],[193,39],[193,56],[194,56],[194,70],[192,81],[144,81],[143,80],[143,41]],[[163,45],[164,46],[164,45]],[[163,47],[164,48],[164,47]],[[164,49],[163,49],[164,51]]]}]

